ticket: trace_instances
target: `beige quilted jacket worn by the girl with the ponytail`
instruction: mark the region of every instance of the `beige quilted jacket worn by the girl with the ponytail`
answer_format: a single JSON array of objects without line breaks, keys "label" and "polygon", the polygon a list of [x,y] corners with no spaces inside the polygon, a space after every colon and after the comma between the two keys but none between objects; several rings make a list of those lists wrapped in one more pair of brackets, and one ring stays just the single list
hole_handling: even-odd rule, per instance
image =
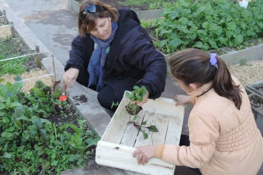
[{"label": "beige quilted jacket worn by the girl with the ponytail", "polygon": [[[232,77],[236,84],[240,84]],[[207,83],[188,93],[194,97],[189,115],[190,146],[159,145],[156,157],[175,165],[199,168],[203,175],[255,175],[263,161],[263,138],[242,86],[242,105],[220,97]]]}]

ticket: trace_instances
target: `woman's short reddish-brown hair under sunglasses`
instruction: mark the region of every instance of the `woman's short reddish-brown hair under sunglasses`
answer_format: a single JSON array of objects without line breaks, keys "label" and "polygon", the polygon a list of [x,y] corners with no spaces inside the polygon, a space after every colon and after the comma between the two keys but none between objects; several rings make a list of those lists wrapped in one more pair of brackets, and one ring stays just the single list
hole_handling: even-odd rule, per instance
[{"label": "woman's short reddish-brown hair under sunglasses", "polygon": [[118,22],[119,20],[119,12],[116,8],[106,5],[100,1],[93,1],[93,0],[84,0],[79,8],[79,13],[84,10],[87,6],[91,4],[98,4],[101,5],[105,10],[97,13],[87,13],[87,16],[83,21],[78,18],[78,27],[79,27],[79,34],[82,37],[85,37],[87,33],[92,31],[96,27],[96,19],[97,18],[105,18],[110,17],[111,20]]}]

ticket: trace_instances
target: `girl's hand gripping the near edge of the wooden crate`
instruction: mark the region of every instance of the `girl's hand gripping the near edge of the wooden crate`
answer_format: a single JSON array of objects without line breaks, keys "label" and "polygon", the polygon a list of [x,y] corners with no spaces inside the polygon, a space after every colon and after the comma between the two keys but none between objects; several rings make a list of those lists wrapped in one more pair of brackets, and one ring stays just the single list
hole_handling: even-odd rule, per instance
[{"label": "girl's hand gripping the near edge of the wooden crate", "polygon": [[136,150],[132,154],[133,157],[136,157],[136,154],[139,154],[138,156],[138,164],[145,164],[147,163],[151,158],[155,157],[155,152],[157,149],[156,145],[150,145],[150,146],[136,146]]}]

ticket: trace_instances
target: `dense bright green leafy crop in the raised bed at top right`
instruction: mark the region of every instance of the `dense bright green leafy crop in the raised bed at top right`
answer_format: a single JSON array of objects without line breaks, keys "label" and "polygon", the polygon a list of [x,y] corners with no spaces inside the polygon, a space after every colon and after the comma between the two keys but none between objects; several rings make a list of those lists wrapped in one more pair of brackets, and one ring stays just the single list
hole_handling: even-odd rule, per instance
[{"label": "dense bright green leafy crop in the raised bed at top right", "polygon": [[253,1],[247,9],[227,0],[178,0],[152,26],[157,26],[160,46],[168,46],[166,52],[235,47],[262,36],[262,10],[262,0]]}]

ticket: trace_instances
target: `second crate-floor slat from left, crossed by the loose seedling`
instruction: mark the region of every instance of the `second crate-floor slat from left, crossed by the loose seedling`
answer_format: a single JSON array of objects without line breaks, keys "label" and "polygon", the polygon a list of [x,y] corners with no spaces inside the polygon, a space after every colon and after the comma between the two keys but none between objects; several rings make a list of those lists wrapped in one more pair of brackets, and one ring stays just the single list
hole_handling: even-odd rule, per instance
[{"label": "second crate-floor slat from left, crossed by the loose seedling", "polygon": [[[147,120],[147,126],[155,125],[156,119],[157,119],[158,113],[153,113],[146,111],[143,121]],[[152,137],[153,132],[150,132],[148,129],[145,129],[145,133],[148,134],[148,138],[144,139],[143,132],[139,132],[136,142],[134,144],[134,147],[136,146],[143,146],[143,145],[150,145],[150,140]]]}]

